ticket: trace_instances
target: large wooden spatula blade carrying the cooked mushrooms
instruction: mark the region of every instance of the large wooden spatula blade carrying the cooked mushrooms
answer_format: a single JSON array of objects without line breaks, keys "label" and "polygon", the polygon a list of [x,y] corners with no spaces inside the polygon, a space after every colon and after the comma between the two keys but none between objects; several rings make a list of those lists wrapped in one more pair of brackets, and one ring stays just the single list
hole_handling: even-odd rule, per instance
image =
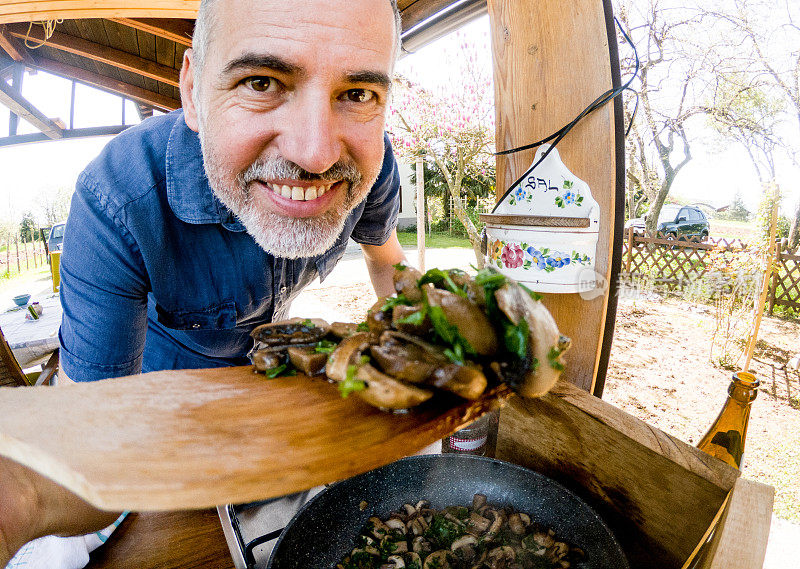
[{"label": "large wooden spatula blade carrying the cooked mushrooms", "polygon": [[[242,503],[412,454],[510,396],[443,397],[390,414],[304,376],[250,367],[0,389],[0,454],[109,510]],[[449,402],[449,407],[448,407]]]}]

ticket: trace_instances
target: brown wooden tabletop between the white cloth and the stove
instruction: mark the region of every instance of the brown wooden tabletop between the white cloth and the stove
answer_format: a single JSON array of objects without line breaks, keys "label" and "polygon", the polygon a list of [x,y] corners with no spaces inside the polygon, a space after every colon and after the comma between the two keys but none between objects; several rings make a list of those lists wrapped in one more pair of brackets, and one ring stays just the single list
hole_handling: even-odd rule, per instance
[{"label": "brown wooden tabletop between the white cloth and the stove", "polygon": [[217,511],[131,513],[88,569],[234,569]]}]

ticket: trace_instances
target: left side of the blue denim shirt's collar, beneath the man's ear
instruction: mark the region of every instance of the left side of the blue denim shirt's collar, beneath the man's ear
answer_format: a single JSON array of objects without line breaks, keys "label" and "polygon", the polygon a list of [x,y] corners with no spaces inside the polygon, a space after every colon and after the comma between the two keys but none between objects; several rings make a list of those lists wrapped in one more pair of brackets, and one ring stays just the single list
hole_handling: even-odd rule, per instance
[{"label": "left side of the blue denim shirt's collar, beneath the man's ear", "polygon": [[186,125],[183,111],[167,143],[167,201],[175,216],[186,223],[221,223],[230,231],[245,228],[220,202],[208,185],[200,137]]}]

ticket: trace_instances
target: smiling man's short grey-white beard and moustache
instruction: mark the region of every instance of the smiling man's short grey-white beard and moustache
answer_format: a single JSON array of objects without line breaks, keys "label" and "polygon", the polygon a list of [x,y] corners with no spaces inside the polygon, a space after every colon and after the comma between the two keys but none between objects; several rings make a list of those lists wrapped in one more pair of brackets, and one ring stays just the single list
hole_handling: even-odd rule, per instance
[{"label": "smiling man's short grey-white beard and moustache", "polygon": [[[213,145],[200,129],[200,143],[206,176],[214,195],[231,210],[258,245],[275,257],[298,259],[314,257],[330,249],[342,233],[347,215],[364,199],[375,183],[380,164],[374,172],[361,171],[352,162],[340,161],[327,172],[316,175],[306,172],[283,157],[262,158],[244,172],[232,172],[216,155]],[[337,191],[346,192],[344,201],[316,217],[287,217],[279,215],[253,195],[251,182],[276,179],[344,180]],[[258,189],[261,191],[261,188]],[[264,197],[264,199],[268,199]]]}]

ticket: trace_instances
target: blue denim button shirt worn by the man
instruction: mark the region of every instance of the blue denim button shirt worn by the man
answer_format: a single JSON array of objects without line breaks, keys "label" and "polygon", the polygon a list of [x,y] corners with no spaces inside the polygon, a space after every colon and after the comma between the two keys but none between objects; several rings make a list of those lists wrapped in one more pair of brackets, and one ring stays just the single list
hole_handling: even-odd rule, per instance
[{"label": "blue denim button shirt worn by the man", "polygon": [[[381,245],[400,180],[388,137],[380,176],[333,247],[306,259],[264,252],[217,200],[182,111],[118,135],[81,173],[61,259],[61,366],[75,381],[244,365],[250,331],[284,318],[349,238]],[[313,316],[313,315],[309,315]]]}]

